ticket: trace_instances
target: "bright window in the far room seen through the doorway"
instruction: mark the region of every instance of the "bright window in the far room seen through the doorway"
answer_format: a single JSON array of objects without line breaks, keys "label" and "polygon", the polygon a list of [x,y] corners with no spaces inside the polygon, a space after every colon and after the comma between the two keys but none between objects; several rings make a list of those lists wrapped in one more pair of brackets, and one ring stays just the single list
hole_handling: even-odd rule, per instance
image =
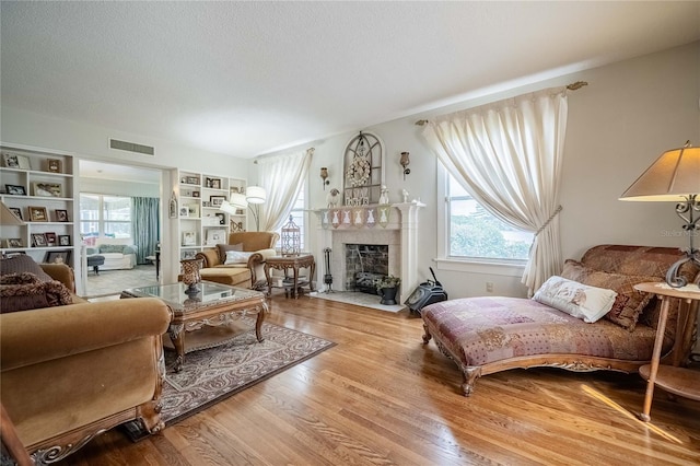
[{"label": "bright window in the far room seen through the doorway", "polygon": [[131,198],[97,194],[80,195],[80,234],[91,237],[131,237]]}]

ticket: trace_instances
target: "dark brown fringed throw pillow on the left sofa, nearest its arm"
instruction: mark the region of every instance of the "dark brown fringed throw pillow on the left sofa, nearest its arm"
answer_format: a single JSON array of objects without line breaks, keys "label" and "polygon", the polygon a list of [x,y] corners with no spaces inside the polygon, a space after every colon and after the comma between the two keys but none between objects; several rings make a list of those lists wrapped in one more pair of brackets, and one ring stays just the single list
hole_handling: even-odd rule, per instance
[{"label": "dark brown fringed throw pillow on the left sofa, nearest its arm", "polygon": [[70,291],[60,281],[0,284],[0,313],[72,304]]}]

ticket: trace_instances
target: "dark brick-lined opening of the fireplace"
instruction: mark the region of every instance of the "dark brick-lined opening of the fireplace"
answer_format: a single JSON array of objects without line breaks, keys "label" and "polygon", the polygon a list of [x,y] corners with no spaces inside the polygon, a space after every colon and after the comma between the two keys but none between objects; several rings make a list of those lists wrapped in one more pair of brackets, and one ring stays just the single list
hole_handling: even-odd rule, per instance
[{"label": "dark brick-lined opening of the fireplace", "polygon": [[377,294],[374,283],[388,275],[389,246],[346,244],[346,290]]}]

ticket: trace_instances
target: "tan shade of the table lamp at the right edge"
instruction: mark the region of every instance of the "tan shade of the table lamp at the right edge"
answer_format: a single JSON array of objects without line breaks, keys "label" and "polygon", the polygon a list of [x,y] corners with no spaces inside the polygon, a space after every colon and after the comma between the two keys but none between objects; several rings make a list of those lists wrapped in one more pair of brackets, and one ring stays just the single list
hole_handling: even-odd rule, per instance
[{"label": "tan shade of the table lamp at the right edge", "polygon": [[686,144],[664,152],[620,200],[685,201],[700,194],[700,148]]}]

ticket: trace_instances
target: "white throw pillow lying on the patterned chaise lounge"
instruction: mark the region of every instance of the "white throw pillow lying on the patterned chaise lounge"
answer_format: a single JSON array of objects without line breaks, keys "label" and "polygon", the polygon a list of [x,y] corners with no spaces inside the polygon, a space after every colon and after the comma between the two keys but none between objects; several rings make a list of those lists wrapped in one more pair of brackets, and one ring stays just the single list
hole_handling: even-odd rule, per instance
[{"label": "white throw pillow lying on the patterned chaise lounge", "polygon": [[533,299],[592,324],[610,311],[616,296],[612,290],[553,276],[542,283]]}]

